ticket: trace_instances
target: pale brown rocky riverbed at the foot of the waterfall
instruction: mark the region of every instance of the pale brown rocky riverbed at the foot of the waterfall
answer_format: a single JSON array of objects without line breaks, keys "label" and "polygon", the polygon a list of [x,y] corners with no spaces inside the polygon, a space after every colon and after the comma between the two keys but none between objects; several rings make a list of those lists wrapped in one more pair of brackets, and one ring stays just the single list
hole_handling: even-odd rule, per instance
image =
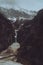
[{"label": "pale brown rocky riverbed at the foot of the waterfall", "polygon": [[13,43],[8,49],[0,53],[0,65],[22,65],[17,63],[17,49],[20,47],[19,43]]}]

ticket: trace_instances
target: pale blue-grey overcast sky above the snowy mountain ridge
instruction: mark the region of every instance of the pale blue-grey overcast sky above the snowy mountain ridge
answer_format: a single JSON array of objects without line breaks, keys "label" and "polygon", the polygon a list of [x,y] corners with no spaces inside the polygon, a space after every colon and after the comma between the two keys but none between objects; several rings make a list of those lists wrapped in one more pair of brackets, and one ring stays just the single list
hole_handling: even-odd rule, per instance
[{"label": "pale blue-grey overcast sky above the snowy mountain ridge", "polygon": [[0,6],[6,8],[24,8],[39,10],[43,8],[43,0],[0,0]]}]

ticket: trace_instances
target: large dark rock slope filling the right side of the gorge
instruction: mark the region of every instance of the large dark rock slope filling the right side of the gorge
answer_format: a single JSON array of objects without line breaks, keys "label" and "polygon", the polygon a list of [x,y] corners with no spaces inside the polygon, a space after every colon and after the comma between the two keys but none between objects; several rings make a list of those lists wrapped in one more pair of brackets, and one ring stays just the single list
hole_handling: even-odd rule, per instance
[{"label": "large dark rock slope filling the right side of the gorge", "polygon": [[24,65],[43,65],[43,9],[33,20],[25,20],[18,31],[17,61]]}]

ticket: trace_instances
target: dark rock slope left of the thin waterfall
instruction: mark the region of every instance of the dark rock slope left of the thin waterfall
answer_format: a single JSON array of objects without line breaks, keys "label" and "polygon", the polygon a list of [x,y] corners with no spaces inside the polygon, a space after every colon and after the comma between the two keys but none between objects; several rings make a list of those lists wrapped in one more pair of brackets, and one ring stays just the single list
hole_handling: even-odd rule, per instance
[{"label": "dark rock slope left of the thin waterfall", "polygon": [[10,20],[0,13],[0,52],[13,42],[14,31]]}]

